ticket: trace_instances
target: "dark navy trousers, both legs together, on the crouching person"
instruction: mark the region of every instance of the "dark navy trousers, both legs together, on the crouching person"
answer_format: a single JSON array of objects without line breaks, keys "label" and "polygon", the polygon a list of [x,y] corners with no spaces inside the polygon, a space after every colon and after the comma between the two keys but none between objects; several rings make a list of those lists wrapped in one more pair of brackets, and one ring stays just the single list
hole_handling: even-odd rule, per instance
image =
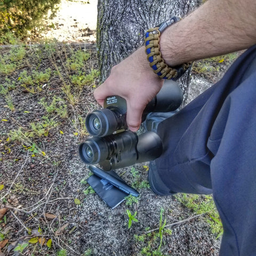
[{"label": "dark navy trousers, both legs together, on the crouching person", "polygon": [[224,229],[220,255],[256,255],[256,45],[157,133],[162,192],[213,193]]}]

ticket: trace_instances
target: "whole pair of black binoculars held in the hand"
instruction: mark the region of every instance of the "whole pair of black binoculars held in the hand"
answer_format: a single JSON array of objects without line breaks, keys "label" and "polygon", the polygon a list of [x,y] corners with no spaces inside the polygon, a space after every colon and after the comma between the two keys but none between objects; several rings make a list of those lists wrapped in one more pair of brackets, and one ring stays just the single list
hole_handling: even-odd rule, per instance
[{"label": "whole pair of black binoculars held in the hand", "polygon": [[[142,121],[148,113],[178,109],[182,98],[179,85],[174,81],[165,81],[143,111]],[[152,161],[163,153],[162,140],[155,132],[137,135],[127,130],[126,101],[117,95],[107,97],[103,109],[88,114],[85,125],[93,137],[81,143],[79,155],[84,163],[98,163],[104,171]]]}]

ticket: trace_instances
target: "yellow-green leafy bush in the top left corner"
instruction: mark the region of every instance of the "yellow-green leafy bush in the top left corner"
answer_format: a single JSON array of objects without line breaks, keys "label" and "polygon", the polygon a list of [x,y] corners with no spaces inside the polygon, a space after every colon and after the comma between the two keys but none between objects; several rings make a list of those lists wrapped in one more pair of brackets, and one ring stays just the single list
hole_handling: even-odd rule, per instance
[{"label": "yellow-green leafy bush in the top left corner", "polygon": [[59,3],[60,0],[1,0],[0,43],[3,38],[8,41],[10,32],[19,37],[25,37],[28,31],[35,33],[42,28],[44,18],[53,17]]}]

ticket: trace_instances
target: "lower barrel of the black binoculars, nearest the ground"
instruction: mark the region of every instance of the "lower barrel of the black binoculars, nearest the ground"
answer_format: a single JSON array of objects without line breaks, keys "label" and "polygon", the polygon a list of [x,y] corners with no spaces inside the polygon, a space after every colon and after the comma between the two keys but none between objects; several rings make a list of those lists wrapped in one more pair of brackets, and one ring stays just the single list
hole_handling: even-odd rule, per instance
[{"label": "lower barrel of the black binoculars, nearest the ground", "polygon": [[83,162],[89,165],[99,163],[105,171],[151,161],[161,156],[162,152],[162,141],[154,132],[137,135],[124,131],[88,139],[79,146]]}]

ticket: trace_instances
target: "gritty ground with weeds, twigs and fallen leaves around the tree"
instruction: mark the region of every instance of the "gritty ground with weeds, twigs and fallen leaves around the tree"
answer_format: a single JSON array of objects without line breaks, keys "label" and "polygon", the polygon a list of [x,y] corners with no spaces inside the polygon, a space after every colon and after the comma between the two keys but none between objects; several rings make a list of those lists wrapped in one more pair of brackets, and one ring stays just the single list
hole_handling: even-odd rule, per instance
[{"label": "gritty ground with weeds, twigs and fallen leaves around the tree", "polygon": [[[50,42],[0,51],[1,256],[218,255],[212,199],[155,195],[147,183],[148,163],[116,171],[140,197],[113,210],[87,184],[90,171],[78,146],[88,137],[86,115],[99,107],[93,98],[99,84],[94,44]],[[235,57],[196,62],[189,100]],[[126,210],[137,212],[131,228]]]}]

